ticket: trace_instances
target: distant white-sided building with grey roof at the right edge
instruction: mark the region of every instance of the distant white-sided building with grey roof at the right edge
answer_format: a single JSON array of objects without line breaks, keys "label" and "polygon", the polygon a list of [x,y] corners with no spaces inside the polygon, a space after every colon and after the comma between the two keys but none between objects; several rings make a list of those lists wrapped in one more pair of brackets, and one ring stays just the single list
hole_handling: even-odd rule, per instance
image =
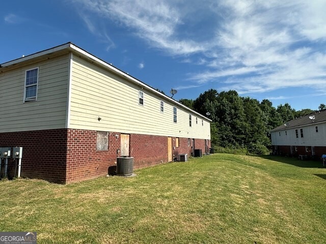
[{"label": "distant white-sided building with grey roof at the right edge", "polygon": [[326,154],[326,109],[271,130],[274,154],[320,158]]}]

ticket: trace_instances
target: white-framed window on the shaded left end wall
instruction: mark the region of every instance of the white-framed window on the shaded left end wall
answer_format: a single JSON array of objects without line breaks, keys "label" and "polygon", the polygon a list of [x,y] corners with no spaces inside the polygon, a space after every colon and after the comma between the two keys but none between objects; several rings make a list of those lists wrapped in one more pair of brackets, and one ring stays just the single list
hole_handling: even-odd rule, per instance
[{"label": "white-framed window on the shaded left end wall", "polygon": [[39,68],[26,70],[24,102],[36,101]]}]

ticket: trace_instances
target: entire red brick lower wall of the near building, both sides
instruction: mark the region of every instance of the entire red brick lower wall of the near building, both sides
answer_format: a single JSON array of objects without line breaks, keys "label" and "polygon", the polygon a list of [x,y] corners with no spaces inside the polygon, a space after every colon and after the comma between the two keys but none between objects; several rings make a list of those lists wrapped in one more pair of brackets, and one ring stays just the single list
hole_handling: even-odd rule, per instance
[{"label": "entire red brick lower wall of the near building, both sides", "polygon": [[[96,131],[73,129],[0,133],[0,146],[23,147],[22,177],[68,184],[116,170],[117,157],[121,156],[120,133],[108,133],[108,149],[103,151],[96,149],[96,136]],[[191,145],[188,146],[187,138],[179,138],[179,147],[176,147],[176,138],[173,137],[174,158],[179,154],[188,154],[190,157],[192,143],[191,139]],[[195,139],[195,146],[205,154],[204,139]],[[166,163],[168,137],[130,134],[129,155],[134,158],[134,169]],[[3,171],[4,161],[2,166]],[[9,159],[9,176],[14,175],[14,170],[15,164]]]}]

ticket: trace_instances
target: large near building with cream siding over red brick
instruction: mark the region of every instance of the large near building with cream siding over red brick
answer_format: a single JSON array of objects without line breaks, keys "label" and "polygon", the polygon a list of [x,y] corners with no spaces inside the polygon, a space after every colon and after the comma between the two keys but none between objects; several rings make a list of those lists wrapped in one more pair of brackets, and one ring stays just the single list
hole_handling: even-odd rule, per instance
[{"label": "large near building with cream siding over red brick", "polygon": [[24,177],[69,183],[120,156],[141,168],[210,147],[210,119],[72,43],[1,64],[0,85],[0,147],[23,147]]}]

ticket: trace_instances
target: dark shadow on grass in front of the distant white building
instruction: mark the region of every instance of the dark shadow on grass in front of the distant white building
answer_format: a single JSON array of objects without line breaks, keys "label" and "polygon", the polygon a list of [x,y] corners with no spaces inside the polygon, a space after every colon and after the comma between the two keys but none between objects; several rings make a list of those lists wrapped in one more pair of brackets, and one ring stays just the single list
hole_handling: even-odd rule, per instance
[{"label": "dark shadow on grass in front of the distant white building", "polygon": [[284,164],[290,164],[301,168],[325,168],[322,165],[322,161],[312,161],[312,160],[298,160],[296,158],[284,157],[284,156],[275,156],[275,155],[258,155],[257,157],[274,160]]}]

